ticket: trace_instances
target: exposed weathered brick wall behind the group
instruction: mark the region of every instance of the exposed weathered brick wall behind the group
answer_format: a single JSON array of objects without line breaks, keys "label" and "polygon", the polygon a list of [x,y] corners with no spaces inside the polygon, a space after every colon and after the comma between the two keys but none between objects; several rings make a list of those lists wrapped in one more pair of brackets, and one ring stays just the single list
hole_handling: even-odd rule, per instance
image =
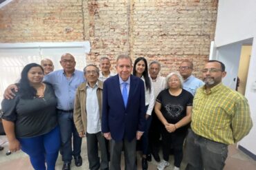
[{"label": "exposed weathered brick wall behind the group", "polygon": [[90,41],[87,63],[128,53],[174,71],[183,59],[195,74],[214,39],[217,0],[14,0],[0,9],[0,42]]}]

